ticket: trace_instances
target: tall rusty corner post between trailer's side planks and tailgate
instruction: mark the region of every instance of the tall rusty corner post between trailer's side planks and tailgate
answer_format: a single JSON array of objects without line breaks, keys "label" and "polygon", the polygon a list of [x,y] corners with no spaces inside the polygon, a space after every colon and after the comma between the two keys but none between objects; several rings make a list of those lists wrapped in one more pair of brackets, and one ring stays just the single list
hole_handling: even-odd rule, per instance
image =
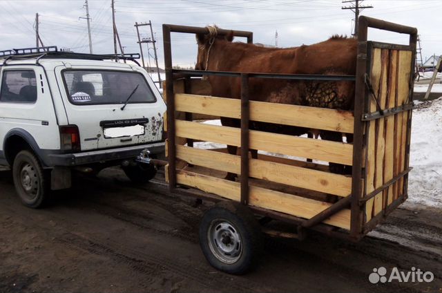
[{"label": "tall rusty corner post between trailer's side planks and tailgate", "polygon": [[358,23],[358,56],[356,61],[356,88],[354,97],[354,140],[352,173],[352,214],[350,237],[358,238],[362,231],[363,210],[359,199],[363,196],[361,186],[363,157],[363,106],[366,99],[364,75],[367,71],[367,19],[360,17]]}]

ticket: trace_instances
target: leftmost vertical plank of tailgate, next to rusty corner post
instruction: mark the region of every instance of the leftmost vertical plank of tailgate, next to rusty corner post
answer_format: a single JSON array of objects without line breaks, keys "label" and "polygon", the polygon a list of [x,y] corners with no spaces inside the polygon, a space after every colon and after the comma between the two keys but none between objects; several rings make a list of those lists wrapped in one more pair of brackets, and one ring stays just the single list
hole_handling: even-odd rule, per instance
[{"label": "leftmost vertical plank of tailgate, next to rusty corner post", "polygon": [[[370,72],[371,82],[374,93],[378,93],[379,80],[381,79],[381,49],[374,48],[372,50],[372,69]],[[376,111],[376,102],[369,95],[369,111]],[[367,142],[367,180],[365,180],[366,194],[374,191],[374,176],[376,167],[376,122],[370,121],[368,124],[368,142]],[[373,216],[374,198],[367,200],[365,204],[365,218],[368,222]]]}]

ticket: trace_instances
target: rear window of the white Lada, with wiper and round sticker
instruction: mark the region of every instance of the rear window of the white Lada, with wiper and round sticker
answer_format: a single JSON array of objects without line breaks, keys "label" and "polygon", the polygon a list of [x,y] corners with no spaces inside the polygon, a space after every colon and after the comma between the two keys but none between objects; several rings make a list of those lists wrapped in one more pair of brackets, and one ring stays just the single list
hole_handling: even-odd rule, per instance
[{"label": "rear window of the white Lada, with wiper and round sticker", "polygon": [[111,70],[64,70],[64,84],[71,103],[128,104],[156,101],[141,73]]}]

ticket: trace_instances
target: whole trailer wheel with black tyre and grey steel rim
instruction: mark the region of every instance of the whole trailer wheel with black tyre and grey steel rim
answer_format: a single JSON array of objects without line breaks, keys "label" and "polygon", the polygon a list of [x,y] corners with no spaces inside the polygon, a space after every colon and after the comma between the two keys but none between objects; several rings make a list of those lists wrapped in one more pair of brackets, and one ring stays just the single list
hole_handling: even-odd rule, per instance
[{"label": "whole trailer wheel with black tyre and grey steel rim", "polygon": [[204,214],[200,245],[207,261],[229,274],[244,274],[262,251],[262,233],[251,211],[236,202],[219,202]]}]

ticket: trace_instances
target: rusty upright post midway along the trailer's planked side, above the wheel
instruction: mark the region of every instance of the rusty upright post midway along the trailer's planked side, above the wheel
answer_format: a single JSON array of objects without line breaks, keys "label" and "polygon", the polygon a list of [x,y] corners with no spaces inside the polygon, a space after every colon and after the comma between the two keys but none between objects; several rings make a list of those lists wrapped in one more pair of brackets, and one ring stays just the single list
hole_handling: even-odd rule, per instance
[{"label": "rusty upright post midway along the trailer's planked side, above the wheel", "polygon": [[241,74],[241,203],[249,203],[249,75]]}]

